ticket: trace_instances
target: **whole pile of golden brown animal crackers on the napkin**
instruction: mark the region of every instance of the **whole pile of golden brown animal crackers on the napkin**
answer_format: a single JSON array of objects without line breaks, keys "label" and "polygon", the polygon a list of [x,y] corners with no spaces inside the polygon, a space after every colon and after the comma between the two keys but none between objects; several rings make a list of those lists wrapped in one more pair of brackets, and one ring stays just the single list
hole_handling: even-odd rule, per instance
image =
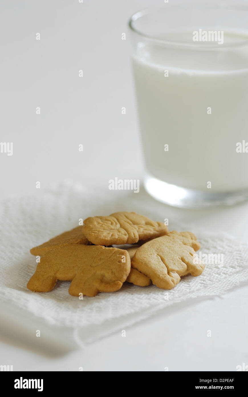
[{"label": "whole pile of golden brown animal crackers on the napkin", "polygon": [[30,250],[40,262],[27,288],[48,292],[59,279],[71,281],[74,296],[118,291],[124,281],[172,289],[181,276],[202,273],[204,265],[193,260],[199,248],[193,233],[168,232],[135,212],[94,216]]}]

